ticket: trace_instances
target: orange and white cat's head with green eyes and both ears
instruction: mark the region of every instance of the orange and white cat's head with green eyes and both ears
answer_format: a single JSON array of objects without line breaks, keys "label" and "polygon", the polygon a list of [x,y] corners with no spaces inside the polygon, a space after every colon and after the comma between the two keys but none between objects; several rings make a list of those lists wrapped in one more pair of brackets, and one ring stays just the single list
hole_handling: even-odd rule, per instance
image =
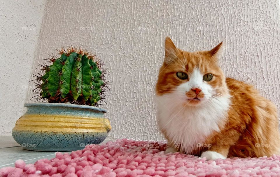
[{"label": "orange and white cat's head with green eyes and both ears", "polygon": [[210,51],[185,52],[167,37],[157,95],[169,95],[183,104],[197,106],[228,94],[225,76],[218,64],[223,50],[220,43]]}]

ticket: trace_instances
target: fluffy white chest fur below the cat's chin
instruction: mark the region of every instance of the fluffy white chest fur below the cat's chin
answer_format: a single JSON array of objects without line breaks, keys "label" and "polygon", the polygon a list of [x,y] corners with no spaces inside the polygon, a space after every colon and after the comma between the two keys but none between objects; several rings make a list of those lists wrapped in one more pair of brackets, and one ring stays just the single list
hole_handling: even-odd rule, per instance
[{"label": "fluffy white chest fur below the cat's chin", "polygon": [[226,118],[230,96],[211,99],[199,106],[183,105],[173,94],[156,96],[156,100],[160,130],[176,148],[181,146],[181,151],[188,154],[203,146],[205,138],[213,131],[220,131],[219,125]]}]

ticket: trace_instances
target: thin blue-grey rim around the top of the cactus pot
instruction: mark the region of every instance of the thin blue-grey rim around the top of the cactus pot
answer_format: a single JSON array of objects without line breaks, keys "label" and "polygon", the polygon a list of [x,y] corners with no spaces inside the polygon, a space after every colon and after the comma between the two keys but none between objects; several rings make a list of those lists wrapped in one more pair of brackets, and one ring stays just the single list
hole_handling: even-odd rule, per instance
[{"label": "thin blue-grey rim around the top of the cactus pot", "polygon": [[32,106],[53,106],[53,107],[73,107],[73,108],[85,108],[85,109],[92,109],[95,111],[100,111],[106,113],[106,109],[102,109],[95,106],[88,106],[88,105],[73,105],[73,104],[66,104],[66,103],[24,103],[24,107],[32,107]]}]

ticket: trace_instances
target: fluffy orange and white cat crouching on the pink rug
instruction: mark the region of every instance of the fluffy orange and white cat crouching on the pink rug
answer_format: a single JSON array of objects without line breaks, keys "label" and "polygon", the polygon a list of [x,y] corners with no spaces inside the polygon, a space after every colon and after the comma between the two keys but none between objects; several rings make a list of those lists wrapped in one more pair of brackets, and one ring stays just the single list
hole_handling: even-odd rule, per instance
[{"label": "fluffy orange and white cat crouching on the pink rug", "polygon": [[253,86],[226,78],[220,43],[210,51],[185,52],[165,40],[157,85],[157,123],[165,151],[206,157],[280,155],[276,106]]}]

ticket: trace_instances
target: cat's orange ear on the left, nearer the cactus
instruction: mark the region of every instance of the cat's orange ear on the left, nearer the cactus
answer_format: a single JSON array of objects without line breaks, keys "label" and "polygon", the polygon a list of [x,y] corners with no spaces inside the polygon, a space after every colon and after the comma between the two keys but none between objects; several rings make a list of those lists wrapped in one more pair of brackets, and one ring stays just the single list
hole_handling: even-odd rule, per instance
[{"label": "cat's orange ear on the left, nearer the cactus", "polygon": [[177,57],[178,49],[172,42],[172,40],[167,36],[165,38],[165,58],[164,63],[169,64]]}]

